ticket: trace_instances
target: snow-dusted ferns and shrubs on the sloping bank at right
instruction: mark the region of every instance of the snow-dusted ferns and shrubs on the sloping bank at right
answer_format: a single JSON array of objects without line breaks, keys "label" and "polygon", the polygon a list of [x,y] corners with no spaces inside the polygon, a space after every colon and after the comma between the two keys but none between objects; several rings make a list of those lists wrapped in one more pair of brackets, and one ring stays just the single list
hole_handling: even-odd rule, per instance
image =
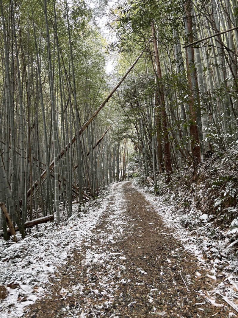
[{"label": "snow-dusted ferns and shrubs on the sloping bank at right", "polygon": [[[226,239],[226,248],[238,252],[238,148],[215,152],[201,163],[194,180],[193,167],[174,171],[166,183],[166,175],[157,177],[157,189],[148,185],[143,171],[137,169],[136,182],[146,185],[163,201],[173,205],[183,227],[193,231],[206,226],[213,239]],[[153,174],[151,173],[151,176]],[[225,233],[225,234],[224,234]]]}]

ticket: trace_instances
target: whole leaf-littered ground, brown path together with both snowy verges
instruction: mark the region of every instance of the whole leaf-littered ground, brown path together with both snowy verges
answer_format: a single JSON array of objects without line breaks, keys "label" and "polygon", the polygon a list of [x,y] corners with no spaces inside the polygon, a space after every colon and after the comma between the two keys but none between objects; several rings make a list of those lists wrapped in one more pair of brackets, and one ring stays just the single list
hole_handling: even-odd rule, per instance
[{"label": "whole leaf-littered ground, brown path together with both snowy verges", "polygon": [[[169,211],[169,206],[163,207]],[[1,281],[17,287],[7,287],[13,296],[9,294],[0,304],[3,316],[235,315],[233,302],[227,302],[231,296],[220,296],[225,295],[228,283],[219,274],[217,281],[207,276],[216,273],[196,258],[203,258],[196,244],[186,240],[182,246],[176,236],[185,240],[182,229],[175,234],[157,210],[153,195],[135,189],[130,182],[114,183],[109,195],[97,200],[82,218],[48,225],[41,229],[40,238],[31,235],[14,243],[11,253],[5,253],[4,246]],[[156,227],[151,227],[150,221]],[[194,251],[196,256],[191,254]],[[10,258],[14,253],[17,256]],[[233,276],[227,280],[233,281]],[[19,294],[26,300],[17,301]]]}]

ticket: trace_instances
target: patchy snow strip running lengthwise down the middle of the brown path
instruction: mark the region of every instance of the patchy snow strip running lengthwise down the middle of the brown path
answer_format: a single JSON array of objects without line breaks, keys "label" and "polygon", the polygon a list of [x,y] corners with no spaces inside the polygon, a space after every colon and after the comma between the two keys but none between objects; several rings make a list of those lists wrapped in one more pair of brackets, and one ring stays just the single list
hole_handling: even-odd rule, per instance
[{"label": "patchy snow strip running lengthwise down the middle of the brown path", "polygon": [[[122,186],[123,183],[112,185],[112,194],[109,196],[109,199],[113,204],[104,209],[104,219],[106,222],[103,225],[103,229],[96,230],[96,242],[92,240],[91,244],[87,245],[86,252],[81,253],[83,258],[81,267],[87,268],[84,275],[88,277],[89,281],[80,286],[80,294],[86,297],[83,303],[77,308],[71,308],[70,313],[69,308],[62,308],[62,313],[65,316],[73,316],[75,318],[87,317],[90,311],[94,317],[103,317],[106,315],[107,309],[112,308],[119,284],[127,285],[130,283],[129,279],[123,277],[124,270],[126,269],[123,265],[123,261],[126,260],[123,252],[119,252],[116,249],[111,250],[108,247],[111,243],[124,239],[123,231],[128,224],[124,213],[125,200],[121,194]],[[115,187],[116,191],[114,192]],[[92,286],[96,285],[94,282],[95,275],[98,279],[97,287],[99,290],[92,288]],[[73,292],[72,287],[69,288],[69,291]],[[87,297],[90,297],[91,292],[93,296],[87,299]],[[94,306],[90,302],[91,299],[95,302]],[[101,302],[101,305],[96,304],[96,300]],[[116,314],[111,314],[110,317],[118,318]]]}]

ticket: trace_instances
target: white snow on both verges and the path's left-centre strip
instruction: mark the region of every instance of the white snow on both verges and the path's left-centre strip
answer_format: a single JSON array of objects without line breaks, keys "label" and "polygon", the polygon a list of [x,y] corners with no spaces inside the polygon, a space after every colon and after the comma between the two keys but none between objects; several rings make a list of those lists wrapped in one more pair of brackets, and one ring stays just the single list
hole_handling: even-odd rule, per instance
[{"label": "white snow on both verges and the path's left-centre strip", "polygon": [[[104,273],[99,273],[99,276],[101,275],[100,279],[102,279],[105,290],[103,297],[109,299],[103,306],[110,306],[114,301],[117,289],[117,284],[114,283],[115,276],[119,278],[119,282],[123,283],[123,275],[120,276],[123,265],[118,264],[118,258],[123,260],[125,256],[122,252],[109,251],[107,245],[124,239],[123,231],[127,228],[129,221],[123,213],[125,200],[122,195],[122,186],[124,184],[111,184],[108,188],[108,195],[105,198],[91,201],[88,204],[87,213],[83,214],[81,218],[71,218],[58,226],[54,223],[43,225],[39,232],[28,235],[18,243],[0,240],[0,284],[7,287],[8,291],[8,296],[2,301],[0,300],[0,317],[23,316],[26,306],[47,294],[48,289],[50,291],[49,278],[55,278],[58,266],[66,264],[76,251],[81,252],[82,244],[87,247],[82,261],[82,266],[88,266],[85,275],[90,278],[94,263],[101,264],[107,270],[107,276]],[[205,271],[207,269],[208,277],[214,281],[220,281],[222,278],[216,288],[204,296],[207,297],[207,301],[214,301],[213,296],[219,293],[223,300],[238,312],[238,281],[237,277],[229,272],[229,264],[224,266],[219,258],[208,260],[204,257],[209,241],[204,234],[206,228],[199,228],[195,232],[182,228],[179,215],[171,212],[172,205],[163,203],[159,197],[138,188],[135,184],[134,186],[143,193],[155,211],[160,214],[165,225],[174,229],[171,234],[181,240],[188,251],[195,254],[199,264],[205,268]],[[75,215],[76,210],[77,206],[74,205]],[[103,221],[102,214],[107,215],[106,225],[103,230],[95,230],[96,226]],[[204,227],[208,223],[206,222],[204,222]],[[127,234],[131,235],[130,232]],[[98,238],[98,244],[93,243],[95,235]],[[167,261],[169,262],[169,260]],[[121,267],[115,270],[117,266]],[[142,269],[138,268],[138,270]],[[199,273],[196,275],[199,276]],[[125,281],[125,283],[127,282]],[[98,290],[93,287],[93,284],[92,282],[91,292],[96,295]],[[83,294],[85,286],[83,284],[72,285],[67,289],[62,289],[62,297],[66,297],[67,294],[72,294],[74,291]],[[102,295],[95,297],[102,297]],[[87,317],[84,314],[87,306],[88,304],[84,303],[82,308],[77,309],[81,313],[80,317]],[[103,312],[103,308],[94,308],[94,310]],[[62,310],[65,310],[65,316],[70,315],[69,308],[62,308]],[[71,310],[71,314],[78,317],[76,311]]]}]

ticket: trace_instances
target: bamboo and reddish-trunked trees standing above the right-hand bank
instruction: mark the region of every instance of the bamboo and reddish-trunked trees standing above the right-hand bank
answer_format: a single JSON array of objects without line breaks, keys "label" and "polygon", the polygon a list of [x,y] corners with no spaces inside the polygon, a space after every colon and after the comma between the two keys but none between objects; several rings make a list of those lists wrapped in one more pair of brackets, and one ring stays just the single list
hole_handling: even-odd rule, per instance
[{"label": "bamboo and reddish-trunked trees standing above the right-hand bank", "polygon": [[[238,6],[233,0],[130,1],[109,13],[128,59],[144,59],[116,102],[145,176],[194,167],[237,144]],[[133,47],[133,51],[131,51]],[[123,59],[122,59],[123,60]]]}]

